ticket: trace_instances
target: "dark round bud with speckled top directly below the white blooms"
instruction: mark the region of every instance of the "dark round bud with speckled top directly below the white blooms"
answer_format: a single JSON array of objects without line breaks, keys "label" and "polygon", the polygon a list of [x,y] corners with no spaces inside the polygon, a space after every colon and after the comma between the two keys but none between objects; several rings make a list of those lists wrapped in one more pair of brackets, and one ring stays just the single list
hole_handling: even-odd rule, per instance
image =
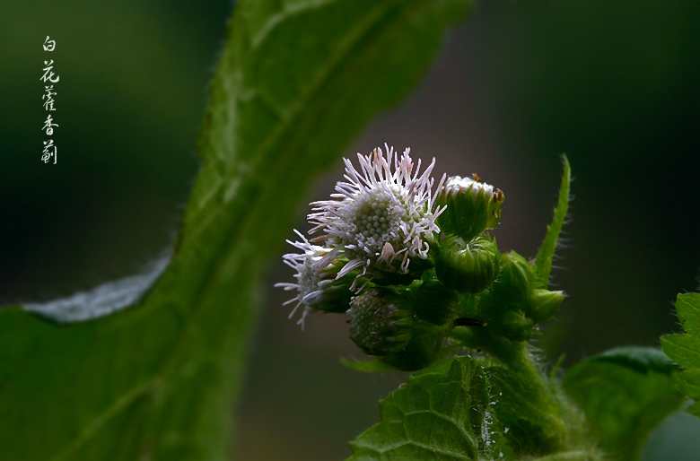
[{"label": "dark round bud with speckled top directly below the white blooms", "polygon": [[370,355],[386,355],[406,348],[412,336],[410,296],[379,289],[355,296],[347,310],[350,339]]}]

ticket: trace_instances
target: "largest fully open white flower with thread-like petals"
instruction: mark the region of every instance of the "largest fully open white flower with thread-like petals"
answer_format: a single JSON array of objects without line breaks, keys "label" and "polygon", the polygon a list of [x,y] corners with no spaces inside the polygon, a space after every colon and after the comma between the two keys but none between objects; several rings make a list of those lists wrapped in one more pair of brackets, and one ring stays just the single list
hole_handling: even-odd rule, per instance
[{"label": "largest fully open white flower with thread-like petals", "polygon": [[[309,232],[325,232],[311,241],[323,241],[332,248],[312,263],[322,270],[338,256],[348,259],[340,278],[358,267],[363,276],[368,269],[407,274],[411,258],[425,259],[433,234],[440,229],[435,219],[444,207],[433,211],[433,162],[420,174],[421,162],[414,165],[407,149],[401,157],[387,148],[386,158],[377,148],[367,156],[357,154],[360,169],[343,159],[346,182],[339,181],[335,200],[313,202]],[[392,171],[393,164],[393,171]],[[438,190],[442,187],[441,183]],[[354,285],[357,282],[353,283]]]}]

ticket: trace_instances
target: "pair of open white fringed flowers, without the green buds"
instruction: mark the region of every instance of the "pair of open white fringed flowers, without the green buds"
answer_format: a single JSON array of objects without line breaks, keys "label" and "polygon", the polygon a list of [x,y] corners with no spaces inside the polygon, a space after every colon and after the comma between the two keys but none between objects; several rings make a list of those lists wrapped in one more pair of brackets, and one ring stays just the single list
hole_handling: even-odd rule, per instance
[{"label": "pair of open white fringed flowers, without the green buds", "polygon": [[421,173],[421,161],[416,165],[409,149],[399,156],[385,147],[386,155],[380,148],[366,156],[358,153],[359,169],[344,159],[346,181],[337,183],[337,194],[311,203],[314,213],[308,219],[314,227],[309,233],[321,235],[309,241],[297,231],[302,241],[288,240],[302,250],[284,255],[297,271],[297,281],[276,286],[298,291],[287,303],[296,301],[293,313],[303,306],[302,325],[312,312],[340,309],[338,303],[346,300],[335,296],[338,291],[359,293],[373,280],[409,274],[412,262],[428,258],[440,231],[435,220],[444,211],[444,206],[433,209],[435,160]]}]

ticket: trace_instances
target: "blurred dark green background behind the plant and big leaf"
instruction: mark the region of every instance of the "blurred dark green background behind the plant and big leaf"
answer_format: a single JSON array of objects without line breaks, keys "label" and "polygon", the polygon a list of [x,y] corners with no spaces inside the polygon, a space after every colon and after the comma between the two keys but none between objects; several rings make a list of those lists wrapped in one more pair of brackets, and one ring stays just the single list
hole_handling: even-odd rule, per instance
[{"label": "blurred dark green background behind the plant and big leaf", "polygon": [[[231,11],[220,1],[0,5],[3,304],[132,274],[170,244]],[[60,75],[57,165],[39,160],[45,59]],[[671,301],[697,288],[700,263],[700,2],[478,4],[424,82],[346,156],[384,142],[436,157],[436,176],[477,172],[502,188],[494,234],[525,256],[544,235],[567,152],[576,197],[553,274],[570,296],[538,342],[550,358],[564,352],[571,364],[679,330]],[[341,171],[338,161],[308,198],[327,196]],[[302,231],[308,212],[299,204]],[[289,250],[280,242],[280,255]],[[377,399],[404,378],[341,366],[362,358],[342,316],[310,317],[304,332],[288,321],[286,293],[271,287],[291,277],[281,258],[270,262],[232,409],[235,459],[346,457],[346,441],[376,422]],[[696,422],[680,418],[654,434],[648,459],[697,453],[673,442]]]}]

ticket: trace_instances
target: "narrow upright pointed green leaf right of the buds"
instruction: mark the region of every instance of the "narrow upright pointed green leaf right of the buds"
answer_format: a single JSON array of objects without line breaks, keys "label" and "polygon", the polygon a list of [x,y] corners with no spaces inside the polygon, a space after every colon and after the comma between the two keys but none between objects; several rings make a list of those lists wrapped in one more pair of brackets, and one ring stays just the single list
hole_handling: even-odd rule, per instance
[{"label": "narrow upright pointed green leaf right of the buds", "polygon": [[559,187],[559,200],[556,203],[554,211],[554,219],[547,226],[547,235],[542,241],[542,246],[539,248],[538,256],[535,259],[535,274],[537,275],[538,283],[536,288],[547,288],[549,285],[549,273],[552,271],[552,258],[556,251],[556,245],[559,241],[559,234],[564,226],[566,212],[569,210],[569,191],[571,186],[571,166],[566,155],[564,159],[564,174],[562,175],[562,184]]}]

